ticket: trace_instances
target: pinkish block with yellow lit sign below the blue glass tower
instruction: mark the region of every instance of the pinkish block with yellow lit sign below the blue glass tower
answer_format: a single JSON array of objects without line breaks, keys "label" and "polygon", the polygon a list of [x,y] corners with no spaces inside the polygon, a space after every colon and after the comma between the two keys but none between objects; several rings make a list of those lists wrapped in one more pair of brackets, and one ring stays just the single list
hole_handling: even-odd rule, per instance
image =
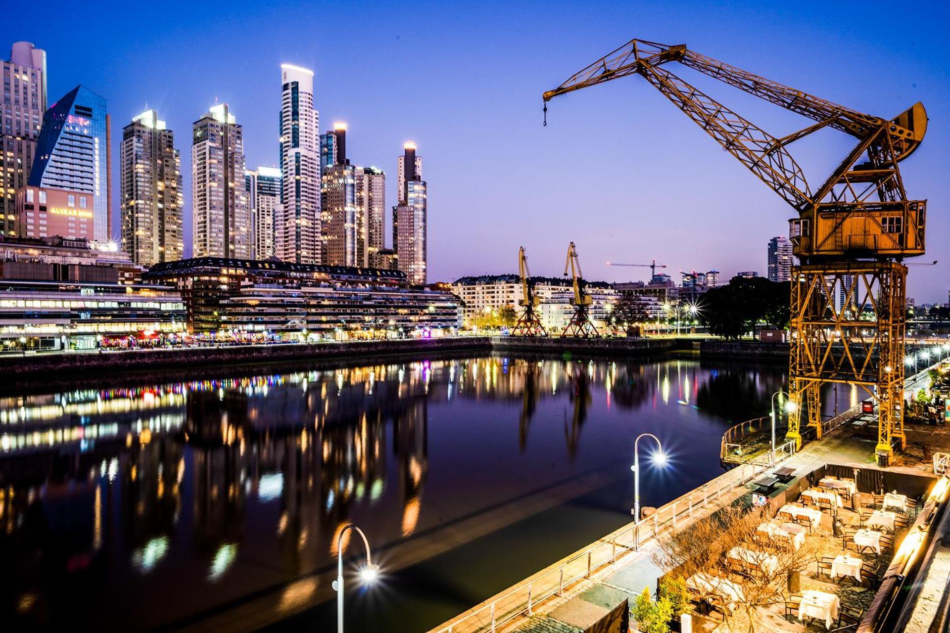
[{"label": "pinkish block with yellow lit sign below the blue glass tower", "polygon": [[21,187],[16,191],[18,219],[16,234],[21,237],[95,239],[92,195],[81,191]]}]

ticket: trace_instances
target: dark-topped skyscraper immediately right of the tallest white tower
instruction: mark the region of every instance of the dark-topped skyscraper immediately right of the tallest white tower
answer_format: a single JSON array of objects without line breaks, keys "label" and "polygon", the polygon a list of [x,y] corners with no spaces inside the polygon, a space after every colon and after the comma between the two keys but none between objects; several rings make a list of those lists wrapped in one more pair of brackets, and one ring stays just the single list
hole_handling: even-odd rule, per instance
[{"label": "dark-topped skyscraper immediately right of the tallest white tower", "polygon": [[320,137],[320,234],[323,263],[361,266],[356,260],[356,180],[347,158],[347,125]]}]

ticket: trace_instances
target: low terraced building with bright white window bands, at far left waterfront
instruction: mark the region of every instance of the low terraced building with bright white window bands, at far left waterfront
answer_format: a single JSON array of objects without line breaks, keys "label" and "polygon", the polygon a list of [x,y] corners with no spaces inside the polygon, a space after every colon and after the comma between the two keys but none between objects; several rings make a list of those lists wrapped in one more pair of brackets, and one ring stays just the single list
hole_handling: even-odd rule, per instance
[{"label": "low terraced building with bright white window bands, at far left waterfront", "polygon": [[100,337],[180,332],[177,290],[142,284],[122,251],[85,240],[0,238],[0,351],[88,349]]}]

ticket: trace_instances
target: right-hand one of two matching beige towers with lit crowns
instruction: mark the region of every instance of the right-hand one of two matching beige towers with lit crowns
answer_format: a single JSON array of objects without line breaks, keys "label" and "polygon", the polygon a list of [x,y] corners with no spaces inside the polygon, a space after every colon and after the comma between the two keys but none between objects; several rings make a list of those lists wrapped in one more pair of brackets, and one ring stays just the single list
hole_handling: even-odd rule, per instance
[{"label": "right-hand one of two matching beige towers with lit crowns", "polygon": [[250,259],[243,130],[227,103],[220,103],[195,121],[192,132],[194,254]]}]

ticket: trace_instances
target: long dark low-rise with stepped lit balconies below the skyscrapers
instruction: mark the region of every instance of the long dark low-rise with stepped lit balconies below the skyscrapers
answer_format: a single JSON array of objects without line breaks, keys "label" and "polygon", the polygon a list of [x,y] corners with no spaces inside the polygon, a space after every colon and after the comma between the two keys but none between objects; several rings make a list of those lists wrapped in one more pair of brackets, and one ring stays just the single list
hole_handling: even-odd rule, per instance
[{"label": "long dark low-rise with stepped lit balconies below the skyscrapers", "polygon": [[448,292],[410,288],[398,270],[201,257],[144,278],[181,291],[192,331],[295,333],[310,339],[439,336],[461,308]]}]

